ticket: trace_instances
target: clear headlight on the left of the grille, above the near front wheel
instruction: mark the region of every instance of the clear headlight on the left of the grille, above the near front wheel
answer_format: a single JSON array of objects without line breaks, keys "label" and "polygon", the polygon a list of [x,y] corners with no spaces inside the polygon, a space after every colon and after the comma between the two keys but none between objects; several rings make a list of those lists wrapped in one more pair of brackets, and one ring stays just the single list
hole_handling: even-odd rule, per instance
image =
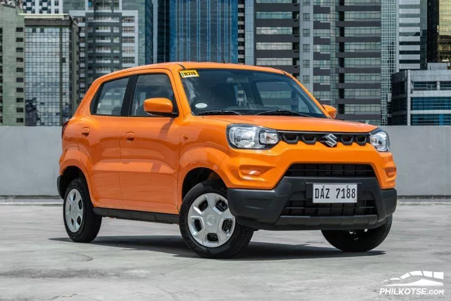
[{"label": "clear headlight on the left of the grille, above the near front wheel", "polygon": [[279,134],[274,129],[250,124],[231,124],[226,134],[234,148],[263,149],[279,142]]}]

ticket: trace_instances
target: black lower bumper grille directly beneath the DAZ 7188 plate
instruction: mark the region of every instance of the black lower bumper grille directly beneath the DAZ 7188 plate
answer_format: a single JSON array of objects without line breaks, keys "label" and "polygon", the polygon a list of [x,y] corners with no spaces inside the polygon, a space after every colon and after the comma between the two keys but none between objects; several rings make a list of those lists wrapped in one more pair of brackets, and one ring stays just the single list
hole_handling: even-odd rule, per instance
[{"label": "black lower bumper grille directly beneath the DAZ 7188 plate", "polygon": [[[363,194],[364,196],[366,194]],[[312,200],[289,200],[281,216],[354,216],[377,214],[371,195],[357,203],[314,204]]]}]

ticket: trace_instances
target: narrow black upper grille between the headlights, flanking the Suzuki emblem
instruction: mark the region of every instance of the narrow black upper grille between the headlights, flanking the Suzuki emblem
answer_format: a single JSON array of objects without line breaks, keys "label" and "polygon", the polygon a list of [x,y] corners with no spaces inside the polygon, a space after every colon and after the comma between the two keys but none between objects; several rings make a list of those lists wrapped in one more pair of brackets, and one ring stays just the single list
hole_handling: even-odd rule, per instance
[{"label": "narrow black upper grille between the headlights, flanking the Suzuki emblem", "polygon": [[[298,131],[279,131],[282,140],[288,144],[297,144],[303,142],[305,144],[316,144],[324,138],[328,132],[298,132]],[[337,137],[337,142],[343,145],[365,145],[370,142],[368,133],[334,133],[331,134]]]}]

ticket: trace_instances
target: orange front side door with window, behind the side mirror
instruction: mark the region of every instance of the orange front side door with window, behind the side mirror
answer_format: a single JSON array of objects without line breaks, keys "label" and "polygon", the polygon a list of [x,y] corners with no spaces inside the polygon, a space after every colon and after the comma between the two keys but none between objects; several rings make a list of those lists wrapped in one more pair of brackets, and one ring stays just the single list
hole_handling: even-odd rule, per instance
[{"label": "orange front side door with window, behind the side mirror", "polygon": [[[119,178],[124,209],[177,213],[177,170],[180,119],[144,112],[145,99],[175,101],[174,82],[167,70],[133,78],[129,117],[121,123]],[[176,114],[178,115],[178,114]]]}]

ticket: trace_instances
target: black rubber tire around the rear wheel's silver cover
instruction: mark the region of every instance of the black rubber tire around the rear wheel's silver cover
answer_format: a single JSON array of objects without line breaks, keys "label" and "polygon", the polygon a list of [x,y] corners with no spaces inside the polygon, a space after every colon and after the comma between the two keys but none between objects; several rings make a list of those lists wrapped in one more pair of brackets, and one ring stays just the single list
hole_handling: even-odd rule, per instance
[{"label": "black rubber tire around the rear wheel's silver cover", "polygon": [[[81,199],[83,202],[83,219],[80,224],[80,228],[76,232],[72,232],[66,222],[66,202],[68,200],[69,193],[76,189],[81,195]],[[63,202],[63,220],[64,226],[66,228],[67,235],[69,238],[75,242],[90,242],[96,238],[97,234],[100,230],[100,225],[102,224],[102,217],[98,216],[94,213],[91,197],[89,196],[88,185],[86,184],[85,179],[78,178],[73,180],[69,187],[66,190],[66,194],[64,196]]]}]

